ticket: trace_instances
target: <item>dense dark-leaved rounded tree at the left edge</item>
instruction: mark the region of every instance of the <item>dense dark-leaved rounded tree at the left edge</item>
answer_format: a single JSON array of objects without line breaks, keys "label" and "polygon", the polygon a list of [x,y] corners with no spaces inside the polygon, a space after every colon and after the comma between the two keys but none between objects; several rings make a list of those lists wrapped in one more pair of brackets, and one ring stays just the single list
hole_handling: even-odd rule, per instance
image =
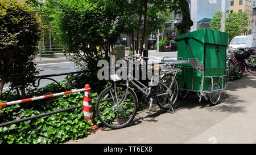
[{"label": "dense dark-leaved rounded tree at the left edge", "polygon": [[5,83],[25,89],[39,73],[32,62],[40,39],[40,21],[35,11],[15,0],[0,1],[0,97]]}]

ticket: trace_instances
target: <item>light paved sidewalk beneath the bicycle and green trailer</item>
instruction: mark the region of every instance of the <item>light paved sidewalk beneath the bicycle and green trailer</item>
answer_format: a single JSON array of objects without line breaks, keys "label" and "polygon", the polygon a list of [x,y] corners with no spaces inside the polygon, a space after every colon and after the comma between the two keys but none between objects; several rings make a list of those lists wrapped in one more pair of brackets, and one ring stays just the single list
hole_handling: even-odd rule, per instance
[{"label": "light paved sidewalk beneath the bicycle and green trailer", "polygon": [[131,126],[120,130],[103,128],[67,143],[255,143],[256,75],[246,74],[231,81],[222,103],[198,103],[197,94],[177,101],[179,109],[170,114],[139,111]]}]

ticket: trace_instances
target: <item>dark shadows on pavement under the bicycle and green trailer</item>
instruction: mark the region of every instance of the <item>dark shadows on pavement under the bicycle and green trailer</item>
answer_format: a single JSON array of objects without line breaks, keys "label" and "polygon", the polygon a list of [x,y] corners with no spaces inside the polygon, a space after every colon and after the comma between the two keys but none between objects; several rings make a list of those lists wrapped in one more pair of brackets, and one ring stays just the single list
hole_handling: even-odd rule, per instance
[{"label": "dark shadows on pavement under the bicycle and green trailer", "polygon": [[[208,100],[205,100],[202,97],[201,102],[199,103],[199,96],[196,93],[189,93],[188,96],[184,99],[177,99],[176,104],[174,106],[177,113],[179,110],[183,109],[207,109],[209,111],[220,111],[220,112],[228,112],[228,113],[246,113],[246,106],[242,106],[241,103],[245,103],[246,101],[242,100],[240,97],[240,89],[245,89],[247,87],[256,88],[256,76],[252,74],[245,74],[241,79],[230,81],[227,87],[227,91],[225,94],[221,94],[221,102],[217,105],[211,105]],[[157,105],[155,105],[157,106]],[[155,113],[151,113],[148,111],[148,108],[145,108],[142,111],[138,111],[133,122],[129,124],[129,126],[135,126],[142,122],[157,122],[160,115],[168,113],[164,110],[157,110]],[[175,113],[174,113],[175,114]],[[127,127],[129,127],[127,126]],[[112,130],[109,128],[102,129],[104,131]]]}]

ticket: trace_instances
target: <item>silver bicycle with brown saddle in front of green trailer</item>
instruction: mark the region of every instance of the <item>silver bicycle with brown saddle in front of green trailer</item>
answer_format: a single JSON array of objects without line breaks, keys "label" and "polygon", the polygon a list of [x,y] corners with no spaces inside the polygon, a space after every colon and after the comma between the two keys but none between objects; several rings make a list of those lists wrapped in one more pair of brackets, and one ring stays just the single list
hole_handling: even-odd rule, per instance
[{"label": "silver bicycle with brown saddle in front of green trailer", "polygon": [[[148,60],[148,57],[133,55],[124,60],[126,62],[131,60],[141,62],[142,59]],[[150,102],[148,110],[155,111],[152,109],[152,104],[156,102],[160,109],[168,110],[171,113],[175,112],[172,106],[176,102],[179,92],[176,74],[180,68],[166,67],[165,70],[162,70],[160,66],[152,66],[150,70],[155,71],[156,74],[152,76],[149,87],[131,76],[133,70],[128,71],[127,79],[123,80],[125,84],[118,83],[122,79],[117,74],[110,75],[112,85],[100,93],[96,102],[96,115],[105,127],[123,128],[133,121],[137,114],[138,97],[130,84],[144,94],[145,101]],[[158,81],[158,84],[153,85],[153,80]]]}]

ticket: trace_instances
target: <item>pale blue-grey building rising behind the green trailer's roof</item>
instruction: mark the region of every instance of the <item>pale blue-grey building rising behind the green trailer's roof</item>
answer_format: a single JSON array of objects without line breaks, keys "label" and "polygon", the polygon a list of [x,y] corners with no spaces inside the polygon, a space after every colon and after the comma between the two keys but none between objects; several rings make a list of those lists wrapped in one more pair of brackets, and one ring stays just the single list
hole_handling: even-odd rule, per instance
[{"label": "pale blue-grey building rising behind the green trailer's roof", "polygon": [[[229,10],[229,1],[226,0],[226,10]],[[191,20],[193,21],[190,31],[192,32],[201,28],[209,28],[212,15],[221,10],[221,0],[191,0],[190,6]]]}]

